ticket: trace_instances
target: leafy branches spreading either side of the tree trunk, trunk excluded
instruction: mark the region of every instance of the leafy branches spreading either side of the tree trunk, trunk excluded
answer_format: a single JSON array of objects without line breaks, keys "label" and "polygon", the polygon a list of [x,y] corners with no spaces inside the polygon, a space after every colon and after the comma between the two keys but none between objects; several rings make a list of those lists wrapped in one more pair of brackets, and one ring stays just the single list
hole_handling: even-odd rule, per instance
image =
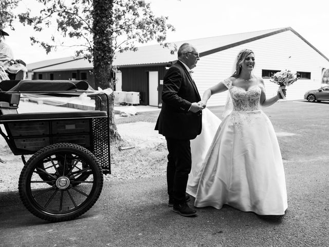
[{"label": "leafy branches spreading either side of the tree trunk, trunk excluded", "polygon": [[[48,39],[38,40],[31,36],[32,43],[38,43],[46,52],[55,50],[58,46],[76,46],[76,55],[83,55],[90,59],[93,55],[93,29],[94,2],[92,0],[34,0],[44,7],[40,15],[31,15],[28,9],[25,13],[19,14],[20,22],[24,25],[32,25],[35,31],[43,31],[57,23],[57,31],[63,37],[76,38],[79,43],[67,45],[58,43],[56,37],[52,35]],[[165,47],[170,47],[166,43],[168,31],[174,31],[174,27],[168,24],[168,17],[155,16],[151,10],[150,3],[140,0],[113,0],[96,1],[104,6],[113,2],[112,9],[103,8],[102,12],[112,12],[112,36],[107,39],[111,41],[111,46],[115,52],[125,50],[136,50],[137,43],[145,43],[151,40],[158,41]],[[100,12],[99,12],[100,13]],[[103,20],[104,22],[106,20]],[[176,47],[171,47],[171,52]]]}]

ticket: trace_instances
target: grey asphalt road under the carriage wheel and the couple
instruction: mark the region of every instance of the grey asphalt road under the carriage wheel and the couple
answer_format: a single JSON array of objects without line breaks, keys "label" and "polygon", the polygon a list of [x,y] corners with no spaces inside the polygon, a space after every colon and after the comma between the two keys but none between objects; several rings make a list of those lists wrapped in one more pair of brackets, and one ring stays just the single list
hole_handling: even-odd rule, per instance
[{"label": "grey asphalt road under the carriage wheel and the couple", "polygon": [[105,180],[92,209],[60,223],[31,215],[17,191],[0,192],[0,246],[329,246],[329,103],[282,102],[265,112],[277,133],[294,134],[278,137],[288,192],[281,220],[229,206],[181,217],[166,205],[164,176]]}]

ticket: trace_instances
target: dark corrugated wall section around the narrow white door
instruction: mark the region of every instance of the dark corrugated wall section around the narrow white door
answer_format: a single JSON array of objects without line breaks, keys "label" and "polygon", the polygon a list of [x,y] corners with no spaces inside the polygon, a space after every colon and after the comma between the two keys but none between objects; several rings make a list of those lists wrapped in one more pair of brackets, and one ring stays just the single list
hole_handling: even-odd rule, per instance
[{"label": "dark corrugated wall section around the narrow white door", "polygon": [[158,72],[158,99],[161,102],[162,85],[159,81],[163,80],[166,74],[166,66],[140,66],[140,67],[119,67],[122,73],[122,91],[139,92],[140,104],[149,104],[149,72]]}]

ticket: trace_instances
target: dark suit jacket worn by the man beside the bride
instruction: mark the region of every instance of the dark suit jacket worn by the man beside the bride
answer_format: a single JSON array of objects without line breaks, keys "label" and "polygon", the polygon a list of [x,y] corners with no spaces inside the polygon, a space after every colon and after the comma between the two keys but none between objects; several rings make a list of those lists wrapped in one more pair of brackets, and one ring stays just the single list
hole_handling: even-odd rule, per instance
[{"label": "dark suit jacket worn by the man beside the bride", "polygon": [[163,79],[162,108],[155,130],[174,139],[191,140],[201,133],[202,111],[189,111],[192,102],[200,101],[200,95],[186,67],[173,64]]}]

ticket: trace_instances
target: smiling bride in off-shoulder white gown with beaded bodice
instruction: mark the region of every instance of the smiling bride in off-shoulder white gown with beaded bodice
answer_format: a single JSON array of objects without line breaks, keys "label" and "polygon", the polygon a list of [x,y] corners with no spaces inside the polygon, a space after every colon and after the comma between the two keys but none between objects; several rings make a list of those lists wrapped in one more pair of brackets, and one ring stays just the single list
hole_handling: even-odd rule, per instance
[{"label": "smiling bride in off-shoulder white gown with beaded bodice", "polygon": [[252,73],[254,63],[253,51],[242,50],[235,73],[203,95],[206,107],[212,94],[229,90],[233,109],[218,127],[202,163],[193,162],[193,156],[200,156],[193,148],[207,146],[206,142],[191,142],[192,162],[197,165],[193,164],[187,193],[195,197],[196,207],[220,209],[227,204],[258,215],[284,215],[287,209],[277,136],[261,110],[282,97],[278,93],[266,99],[262,78]]}]

